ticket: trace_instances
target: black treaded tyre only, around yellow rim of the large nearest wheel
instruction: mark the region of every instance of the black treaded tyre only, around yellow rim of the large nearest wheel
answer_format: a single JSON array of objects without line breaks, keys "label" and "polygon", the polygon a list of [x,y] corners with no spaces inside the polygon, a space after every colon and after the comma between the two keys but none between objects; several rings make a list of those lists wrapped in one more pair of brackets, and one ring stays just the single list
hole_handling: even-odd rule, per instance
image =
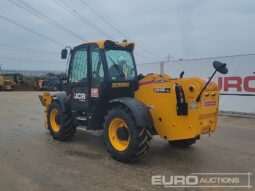
[{"label": "black treaded tyre only, around yellow rim of the large nearest wheel", "polygon": [[[127,124],[130,135],[128,147],[124,151],[116,150],[109,140],[109,125],[115,118],[121,118]],[[146,127],[138,127],[132,113],[125,107],[112,108],[105,117],[104,140],[107,151],[120,162],[132,163],[141,159],[149,149],[151,134]]]}]

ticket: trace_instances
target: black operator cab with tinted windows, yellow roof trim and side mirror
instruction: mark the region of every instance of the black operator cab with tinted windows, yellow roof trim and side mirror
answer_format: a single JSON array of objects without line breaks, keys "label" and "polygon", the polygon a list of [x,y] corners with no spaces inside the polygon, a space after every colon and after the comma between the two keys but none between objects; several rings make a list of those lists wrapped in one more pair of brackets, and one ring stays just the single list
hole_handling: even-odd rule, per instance
[{"label": "black operator cab with tinted windows, yellow roof trim and side mirror", "polygon": [[[109,40],[70,48],[65,91],[71,110],[92,116],[103,112],[111,99],[134,97],[138,85],[133,50],[134,43]],[[67,54],[67,48],[63,49],[61,58],[66,59]]]}]

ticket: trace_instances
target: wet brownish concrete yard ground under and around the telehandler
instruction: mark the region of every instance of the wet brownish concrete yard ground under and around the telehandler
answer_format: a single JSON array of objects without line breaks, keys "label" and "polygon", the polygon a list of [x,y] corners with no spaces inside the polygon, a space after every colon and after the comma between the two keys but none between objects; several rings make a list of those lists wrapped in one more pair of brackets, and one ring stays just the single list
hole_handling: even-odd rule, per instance
[{"label": "wet brownish concrete yard ground under and around the telehandler", "polygon": [[146,157],[127,165],[106,152],[101,132],[78,130],[71,142],[53,140],[37,94],[0,92],[0,190],[170,190],[152,186],[151,176],[255,172],[255,119],[221,116],[217,132],[189,149],[156,136]]}]

